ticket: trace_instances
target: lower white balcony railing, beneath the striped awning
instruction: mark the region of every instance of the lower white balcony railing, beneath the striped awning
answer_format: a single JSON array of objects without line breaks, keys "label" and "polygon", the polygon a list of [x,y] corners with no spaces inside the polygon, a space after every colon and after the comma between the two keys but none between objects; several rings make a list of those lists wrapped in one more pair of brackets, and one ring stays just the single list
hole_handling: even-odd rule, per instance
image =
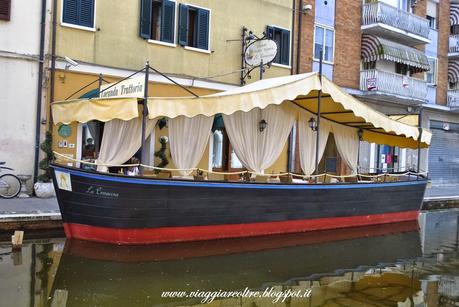
[{"label": "lower white balcony railing, beneath the striped awning", "polygon": [[371,94],[388,94],[406,99],[425,100],[427,83],[424,80],[369,69],[360,72],[360,90]]}]

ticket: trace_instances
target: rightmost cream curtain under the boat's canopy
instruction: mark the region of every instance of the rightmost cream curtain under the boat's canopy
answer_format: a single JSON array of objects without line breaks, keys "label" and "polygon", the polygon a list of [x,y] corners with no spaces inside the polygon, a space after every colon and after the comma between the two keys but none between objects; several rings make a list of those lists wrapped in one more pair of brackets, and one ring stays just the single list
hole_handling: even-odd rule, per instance
[{"label": "rightmost cream curtain under the boat's canopy", "polygon": [[341,158],[351,168],[352,174],[357,173],[357,156],[360,145],[358,129],[333,123],[332,131]]}]

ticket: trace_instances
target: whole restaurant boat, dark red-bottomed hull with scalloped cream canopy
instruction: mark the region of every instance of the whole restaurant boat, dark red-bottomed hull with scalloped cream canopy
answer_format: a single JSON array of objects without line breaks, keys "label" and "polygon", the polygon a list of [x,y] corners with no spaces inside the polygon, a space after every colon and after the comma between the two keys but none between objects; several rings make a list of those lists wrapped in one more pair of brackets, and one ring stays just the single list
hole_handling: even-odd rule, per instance
[{"label": "whole restaurant boat, dark red-bottomed hull with scalloped cream canopy", "polygon": [[[143,140],[147,116],[139,115],[139,102],[148,108],[150,119],[190,120],[198,115],[232,116],[238,111],[288,104],[307,116],[317,116],[322,125],[336,125],[333,133],[340,129],[357,133],[360,129],[361,140],[418,148],[418,153],[421,147],[428,146],[431,137],[426,130],[372,110],[315,73],[262,80],[234,91],[197,98],[145,96],[143,100],[54,103],[53,118],[65,123],[142,117]],[[301,121],[300,117],[298,122],[304,124],[307,118]],[[274,129],[269,125],[268,129]],[[254,126],[257,127],[256,123]],[[263,129],[257,133],[263,133]],[[203,135],[208,137],[208,132]],[[351,136],[352,140],[354,137]],[[279,143],[282,149],[282,141]],[[312,138],[309,144],[313,146]],[[319,144],[318,140],[315,144]],[[355,158],[349,160],[357,161]],[[268,184],[130,177],[57,164],[52,169],[67,237],[114,244],[250,237],[414,220],[427,182],[419,174],[414,180],[409,175],[399,176],[395,182]]]}]

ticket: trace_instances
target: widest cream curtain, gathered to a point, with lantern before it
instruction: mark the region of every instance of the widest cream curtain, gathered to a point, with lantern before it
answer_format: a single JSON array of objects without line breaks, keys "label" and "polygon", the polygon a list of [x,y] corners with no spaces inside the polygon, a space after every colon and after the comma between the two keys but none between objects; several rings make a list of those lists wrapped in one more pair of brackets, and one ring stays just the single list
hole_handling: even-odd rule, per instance
[{"label": "widest cream curtain, gathered to a point, with lantern before it", "polygon": [[[223,115],[225,129],[234,152],[247,169],[263,173],[274,164],[284,149],[295,122],[296,112],[286,105],[270,105],[249,112]],[[260,121],[267,126],[260,132]]]}]

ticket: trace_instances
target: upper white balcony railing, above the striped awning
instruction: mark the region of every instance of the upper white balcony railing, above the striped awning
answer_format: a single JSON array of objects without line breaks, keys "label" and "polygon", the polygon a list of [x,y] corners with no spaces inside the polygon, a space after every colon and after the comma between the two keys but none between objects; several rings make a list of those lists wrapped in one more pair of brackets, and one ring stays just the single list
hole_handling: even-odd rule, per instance
[{"label": "upper white balcony railing, above the striped awning", "polygon": [[429,22],[406,11],[402,11],[383,2],[364,4],[362,7],[362,25],[383,23],[406,32],[429,38]]}]

